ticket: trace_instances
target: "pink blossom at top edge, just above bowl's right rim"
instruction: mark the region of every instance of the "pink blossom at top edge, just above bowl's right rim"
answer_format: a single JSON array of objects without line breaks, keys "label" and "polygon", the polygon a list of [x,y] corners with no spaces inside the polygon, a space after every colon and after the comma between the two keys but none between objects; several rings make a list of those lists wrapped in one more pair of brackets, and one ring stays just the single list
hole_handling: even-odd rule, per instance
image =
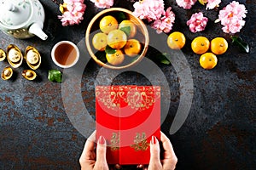
[{"label": "pink blossom at top edge, just above bowl's right rim", "polygon": [[165,14],[165,4],[163,0],[141,0],[133,4],[133,14],[141,20],[160,19],[162,14]]}]

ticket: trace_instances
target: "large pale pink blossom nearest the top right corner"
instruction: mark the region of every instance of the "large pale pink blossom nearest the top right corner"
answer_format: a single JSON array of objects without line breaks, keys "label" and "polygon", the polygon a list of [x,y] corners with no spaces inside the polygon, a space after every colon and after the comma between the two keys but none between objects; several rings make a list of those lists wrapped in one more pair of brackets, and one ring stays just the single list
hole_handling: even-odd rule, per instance
[{"label": "large pale pink blossom nearest the top right corner", "polygon": [[242,19],[246,18],[246,14],[247,9],[245,6],[233,1],[219,11],[218,21],[220,20],[221,25],[224,26],[222,30],[225,33],[236,33],[245,25],[245,21]]}]

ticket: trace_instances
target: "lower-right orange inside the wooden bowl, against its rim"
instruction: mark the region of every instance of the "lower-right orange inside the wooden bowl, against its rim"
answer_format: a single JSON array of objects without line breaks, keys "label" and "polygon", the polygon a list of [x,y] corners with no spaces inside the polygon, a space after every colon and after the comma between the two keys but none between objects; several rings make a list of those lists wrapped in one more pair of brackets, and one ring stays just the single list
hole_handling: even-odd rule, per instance
[{"label": "lower-right orange inside the wooden bowl, against its rim", "polygon": [[124,47],[125,54],[130,57],[134,57],[139,54],[141,49],[142,45],[139,41],[137,41],[137,39],[128,40]]}]

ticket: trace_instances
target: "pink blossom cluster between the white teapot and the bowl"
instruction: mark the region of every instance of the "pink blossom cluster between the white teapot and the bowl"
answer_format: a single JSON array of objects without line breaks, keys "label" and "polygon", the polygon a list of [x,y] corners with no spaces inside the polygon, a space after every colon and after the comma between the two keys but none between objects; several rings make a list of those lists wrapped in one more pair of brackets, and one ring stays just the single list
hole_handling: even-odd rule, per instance
[{"label": "pink blossom cluster between the white teapot and the bowl", "polygon": [[81,20],[84,20],[85,8],[84,0],[64,0],[63,4],[60,5],[62,15],[58,15],[62,26],[79,24]]}]

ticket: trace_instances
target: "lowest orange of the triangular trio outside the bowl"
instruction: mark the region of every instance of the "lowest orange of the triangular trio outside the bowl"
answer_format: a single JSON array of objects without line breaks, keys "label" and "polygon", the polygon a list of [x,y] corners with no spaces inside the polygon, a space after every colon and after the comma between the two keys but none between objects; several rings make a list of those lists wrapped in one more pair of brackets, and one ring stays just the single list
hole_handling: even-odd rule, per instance
[{"label": "lowest orange of the triangular trio outside the bowl", "polygon": [[215,54],[206,53],[201,55],[199,62],[202,68],[210,70],[217,65],[218,59]]}]

